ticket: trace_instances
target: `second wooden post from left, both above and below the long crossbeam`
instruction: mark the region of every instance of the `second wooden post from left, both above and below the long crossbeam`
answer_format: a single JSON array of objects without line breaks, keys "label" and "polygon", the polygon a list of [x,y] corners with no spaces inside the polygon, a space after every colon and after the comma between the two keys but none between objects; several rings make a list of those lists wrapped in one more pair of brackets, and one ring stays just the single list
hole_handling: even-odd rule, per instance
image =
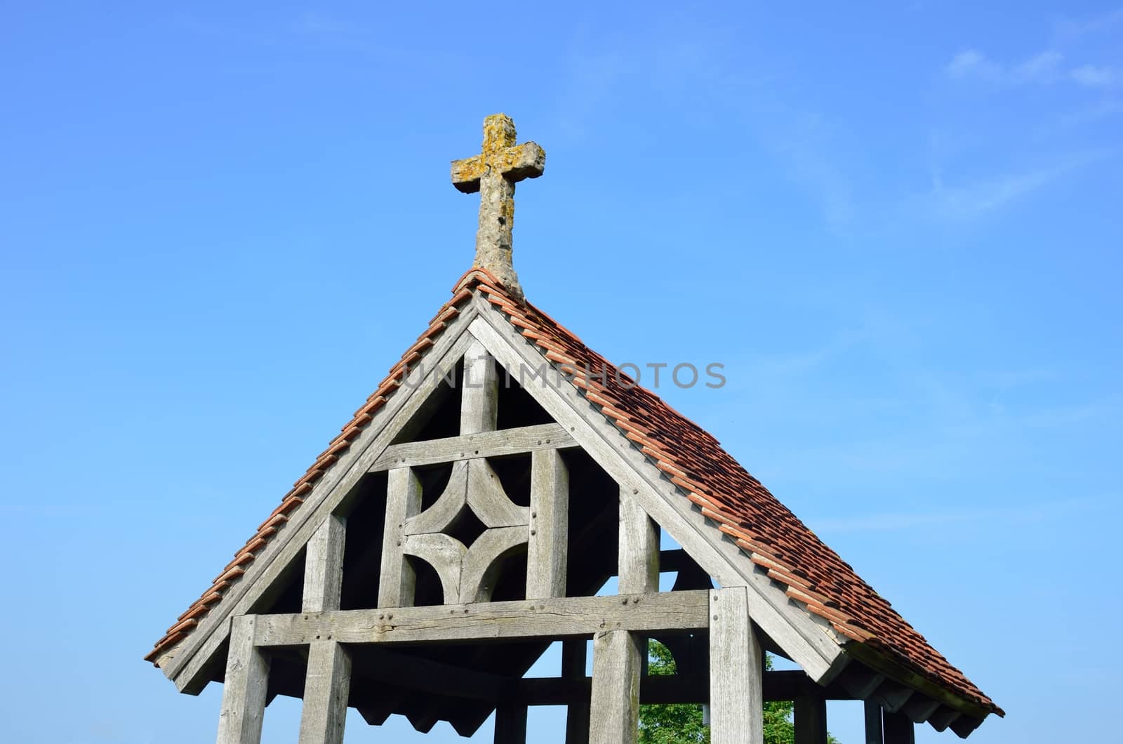
[{"label": "second wooden post from left, both above and below the long crossbeam", "polygon": [[[308,542],[302,611],[339,609],[345,532],[344,520],[329,515]],[[330,635],[317,634],[308,648],[300,744],[343,744],[349,692],[350,656]]]}]

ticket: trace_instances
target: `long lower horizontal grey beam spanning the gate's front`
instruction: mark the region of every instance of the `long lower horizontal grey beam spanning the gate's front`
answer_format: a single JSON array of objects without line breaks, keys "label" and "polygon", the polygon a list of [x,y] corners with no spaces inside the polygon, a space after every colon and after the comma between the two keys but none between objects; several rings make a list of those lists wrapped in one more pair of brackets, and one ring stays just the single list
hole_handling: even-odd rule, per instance
[{"label": "long lower horizontal grey beam spanning the gate's front", "polygon": [[606,629],[693,630],[709,623],[709,595],[700,590],[262,615],[255,642],[261,646],[299,646],[317,636],[349,644],[529,641]]}]

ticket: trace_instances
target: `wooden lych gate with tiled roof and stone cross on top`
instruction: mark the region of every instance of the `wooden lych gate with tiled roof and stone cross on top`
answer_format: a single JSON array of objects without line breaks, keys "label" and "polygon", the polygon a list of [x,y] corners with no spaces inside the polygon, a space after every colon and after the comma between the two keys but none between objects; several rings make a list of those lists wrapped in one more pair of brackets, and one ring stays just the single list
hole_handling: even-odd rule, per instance
[{"label": "wooden lych gate with tiled roof and stone cross on top", "polygon": [[[341,742],[348,707],[466,736],[494,713],[502,743],[533,705],[601,743],[634,742],[647,701],[707,704],[714,744],[761,742],[765,700],[795,701],[801,743],[825,743],[829,699],[866,701],[867,742],[1001,714],[716,441],[526,302],[514,182],[545,153],[502,115],[484,130],[453,165],[482,192],[475,266],[148,655],[181,691],[223,682],[219,743],[258,742],[276,695],[303,698],[302,744]],[[649,638],[676,674],[646,674]],[[555,641],[560,675],[524,679]]]}]

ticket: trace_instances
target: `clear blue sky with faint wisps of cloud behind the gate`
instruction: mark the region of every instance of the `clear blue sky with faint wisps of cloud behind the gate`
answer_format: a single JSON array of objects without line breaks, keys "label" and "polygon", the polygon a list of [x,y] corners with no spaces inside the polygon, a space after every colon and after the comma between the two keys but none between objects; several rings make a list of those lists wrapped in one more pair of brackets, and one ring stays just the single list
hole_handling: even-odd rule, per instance
[{"label": "clear blue sky with faint wisps of cloud behind the gate", "polygon": [[0,738],[213,736],[140,656],[468,267],[495,111],[528,297],[725,364],[659,392],[1006,709],[971,741],[1115,735],[1123,7],[979,4],[8,3]]}]

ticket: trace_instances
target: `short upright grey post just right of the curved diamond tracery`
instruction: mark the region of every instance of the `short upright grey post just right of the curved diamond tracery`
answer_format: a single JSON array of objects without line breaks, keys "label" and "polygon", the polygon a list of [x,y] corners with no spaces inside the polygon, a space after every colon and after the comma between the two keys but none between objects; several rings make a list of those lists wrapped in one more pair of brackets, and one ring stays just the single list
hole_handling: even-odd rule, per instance
[{"label": "short upright grey post just right of the curved diamond tracery", "polygon": [[569,471],[556,450],[530,456],[527,598],[565,597],[569,541]]}]

